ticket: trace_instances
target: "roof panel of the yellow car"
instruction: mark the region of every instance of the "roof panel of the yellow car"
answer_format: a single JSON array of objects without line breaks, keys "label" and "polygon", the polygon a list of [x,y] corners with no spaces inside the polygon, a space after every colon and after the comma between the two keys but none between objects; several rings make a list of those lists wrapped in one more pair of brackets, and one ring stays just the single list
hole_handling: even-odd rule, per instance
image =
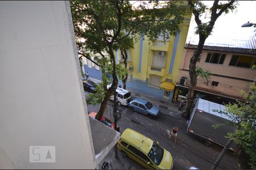
[{"label": "roof panel of the yellow car", "polygon": [[121,138],[133,144],[135,147],[140,148],[145,154],[148,154],[154,142],[152,139],[130,128],[123,131]]}]

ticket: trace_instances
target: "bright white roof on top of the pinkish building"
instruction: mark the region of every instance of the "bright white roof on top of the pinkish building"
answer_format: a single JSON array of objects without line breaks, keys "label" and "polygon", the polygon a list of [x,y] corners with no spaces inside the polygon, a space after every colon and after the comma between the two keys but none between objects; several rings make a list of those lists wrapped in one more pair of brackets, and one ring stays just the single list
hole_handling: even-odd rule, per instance
[{"label": "bright white roof on top of the pinkish building", "polygon": [[[252,30],[252,29],[251,29]],[[256,54],[256,32],[238,32],[233,36],[209,36],[204,43],[204,50],[216,50],[241,54]],[[248,31],[248,30],[246,30]],[[185,48],[195,49],[199,36],[192,36]]]}]

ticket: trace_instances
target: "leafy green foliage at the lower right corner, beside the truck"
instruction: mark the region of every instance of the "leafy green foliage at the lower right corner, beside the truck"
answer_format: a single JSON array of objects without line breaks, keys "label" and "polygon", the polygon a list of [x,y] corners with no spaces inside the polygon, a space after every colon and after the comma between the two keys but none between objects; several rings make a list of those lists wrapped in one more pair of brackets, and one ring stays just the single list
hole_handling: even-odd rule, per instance
[{"label": "leafy green foliage at the lower right corner, beside the truck", "polygon": [[228,138],[238,145],[238,160],[243,169],[256,169],[256,86],[251,84],[248,93],[241,91],[246,103],[228,104],[227,112],[237,121],[237,129]]}]

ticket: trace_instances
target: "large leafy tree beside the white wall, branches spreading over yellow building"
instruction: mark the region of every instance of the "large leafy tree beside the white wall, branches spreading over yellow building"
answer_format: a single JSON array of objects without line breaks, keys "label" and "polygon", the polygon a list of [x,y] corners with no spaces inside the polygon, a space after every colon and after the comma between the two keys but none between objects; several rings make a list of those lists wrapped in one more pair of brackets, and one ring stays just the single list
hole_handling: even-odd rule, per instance
[{"label": "large leafy tree beside the white wall, branches spreading over yellow building", "polygon": [[[93,61],[102,68],[102,86],[100,87],[105,91],[104,97],[100,96],[102,100],[96,116],[98,120],[103,116],[106,103],[118,84],[118,65],[115,63],[114,51],[125,49],[122,45],[125,45],[123,42],[129,40],[129,35],[132,40],[140,35],[147,35],[150,40],[156,39],[160,33],[164,39],[168,39],[169,35],[176,35],[179,25],[188,12],[188,6],[183,2],[171,1],[167,3],[166,8],[162,9],[158,9],[158,2],[152,2],[155,5],[151,10],[148,10],[144,2],[137,10],[134,10],[129,1],[71,1],[79,54],[88,59],[92,54],[101,56],[98,62]],[[133,41],[129,43],[131,42]],[[112,68],[112,72],[109,67]],[[106,88],[109,83],[106,75],[108,71],[112,75],[110,88]],[[125,71],[120,69],[119,75],[123,73]]]}]

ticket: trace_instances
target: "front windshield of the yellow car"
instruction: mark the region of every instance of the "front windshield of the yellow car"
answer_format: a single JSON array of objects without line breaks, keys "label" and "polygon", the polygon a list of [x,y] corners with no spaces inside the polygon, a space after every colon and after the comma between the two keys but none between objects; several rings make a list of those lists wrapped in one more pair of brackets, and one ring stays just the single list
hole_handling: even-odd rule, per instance
[{"label": "front windshield of the yellow car", "polygon": [[157,145],[155,142],[152,145],[150,152],[147,154],[149,158],[154,162],[156,165],[159,165],[163,159],[164,150],[162,147]]}]

